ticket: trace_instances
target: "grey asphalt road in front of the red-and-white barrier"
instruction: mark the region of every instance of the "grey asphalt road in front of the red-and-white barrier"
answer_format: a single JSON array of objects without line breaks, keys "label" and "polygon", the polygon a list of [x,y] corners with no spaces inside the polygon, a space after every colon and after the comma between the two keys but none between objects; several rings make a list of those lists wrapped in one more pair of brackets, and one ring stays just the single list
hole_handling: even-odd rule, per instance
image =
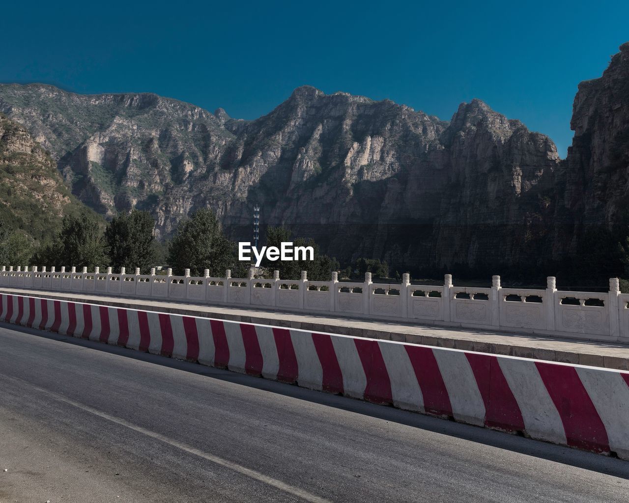
[{"label": "grey asphalt road in front of the red-and-white barrier", "polygon": [[0,324],[0,503],[47,500],[626,502],[629,462]]}]

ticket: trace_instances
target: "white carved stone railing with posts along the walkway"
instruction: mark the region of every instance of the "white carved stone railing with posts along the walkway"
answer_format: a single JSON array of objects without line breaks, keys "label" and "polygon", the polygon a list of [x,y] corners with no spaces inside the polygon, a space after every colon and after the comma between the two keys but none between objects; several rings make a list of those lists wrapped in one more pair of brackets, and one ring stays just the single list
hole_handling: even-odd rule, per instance
[{"label": "white carved stone railing with posts along the walkway", "polygon": [[233,278],[230,270],[225,277],[210,277],[208,270],[196,277],[189,269],[177,276],[170,269],[156,274],[154,268],[150,274],[139,268],[127,274],[111,267],[77,272],[4,266],[0,286],[629,342],[629,294],[620,293],[617,278],[610,279],[608,292],[592,293],[557,290],[554,277],[548,277],[546,289],[513,289],[501,287],[499,276],[481,288],[455,286],[449,274],[435,286],[411,284],[408,274],[400,284],[377,284],[370,273],[364,282],[340,282],[336,272],[330,281],[310,281],[306,271],[299,280],[281,279],[277,271],[272,279],[260,279],[254,272]]}]

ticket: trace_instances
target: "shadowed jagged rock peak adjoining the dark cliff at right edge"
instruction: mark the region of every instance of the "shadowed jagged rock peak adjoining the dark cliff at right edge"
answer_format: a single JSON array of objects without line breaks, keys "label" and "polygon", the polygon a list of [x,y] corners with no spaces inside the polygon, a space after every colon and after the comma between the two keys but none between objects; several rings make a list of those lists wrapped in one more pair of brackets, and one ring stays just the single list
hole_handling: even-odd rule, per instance
[{"label": "shadowed jagged rock peak adjoining the dark cliff at right edge", "polygon": [[547,192],[560,162],[552,140],[474,100],[459,107],[442,141],[449,185],[435,262],[487,268],[504,257],[538,262],[552,218]]}]

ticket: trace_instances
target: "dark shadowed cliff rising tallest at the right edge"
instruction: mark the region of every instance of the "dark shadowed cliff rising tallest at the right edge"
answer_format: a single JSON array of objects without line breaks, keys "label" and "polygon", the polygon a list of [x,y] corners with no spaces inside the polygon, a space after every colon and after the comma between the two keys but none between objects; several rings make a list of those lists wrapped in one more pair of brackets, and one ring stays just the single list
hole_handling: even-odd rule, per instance
[{"label": "dark shadowed cliff rising tallest at the right edge", "polygon": [[618,262],[617,243],[629,225],[629,43],[602,77],[579,84],[571,128],[572,146],[550,192],[552,257],[603,268]]}]

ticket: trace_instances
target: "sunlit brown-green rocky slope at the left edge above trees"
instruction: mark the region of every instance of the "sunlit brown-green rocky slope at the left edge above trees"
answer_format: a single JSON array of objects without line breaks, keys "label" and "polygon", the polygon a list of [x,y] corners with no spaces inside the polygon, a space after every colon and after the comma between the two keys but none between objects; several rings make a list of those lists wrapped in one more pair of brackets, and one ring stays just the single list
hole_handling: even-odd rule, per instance
[{"label": "sunlit brown-green rocky slope at the left edge above trees", "polygon": [[35,240],[47,238],[67,213],[81,211],[57,163],[20,124],[0,114],[0,220]]}]

